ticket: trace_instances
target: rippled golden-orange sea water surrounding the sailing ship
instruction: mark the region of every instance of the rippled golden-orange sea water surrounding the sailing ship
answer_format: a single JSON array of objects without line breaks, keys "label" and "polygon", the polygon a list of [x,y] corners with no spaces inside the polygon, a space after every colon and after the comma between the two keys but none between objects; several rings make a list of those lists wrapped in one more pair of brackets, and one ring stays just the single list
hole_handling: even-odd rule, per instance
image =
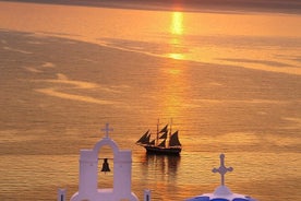
[{"label": "rippled golden-orange sea water surrounding the sailing ship", "polygon": [[[300,15],[0,7],[1,200],[56,200],[58,188],[70,199],[80,150],[106,122],[132,150],[141,200],[214,191],[220,153],[233,192],[300,199]],[[179,157],[135,145],[158,119],[179,130]],[[112,177],[99,173],[99,188]]]}]

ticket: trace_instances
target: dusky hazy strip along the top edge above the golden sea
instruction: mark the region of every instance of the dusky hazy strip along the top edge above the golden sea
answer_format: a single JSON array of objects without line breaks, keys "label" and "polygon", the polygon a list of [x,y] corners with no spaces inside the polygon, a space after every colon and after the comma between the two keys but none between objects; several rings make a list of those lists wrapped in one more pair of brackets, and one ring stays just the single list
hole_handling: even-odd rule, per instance
[{"label": "dusky hazy strip along the top edge above the golden sea", "polygon": [[270,12],[300,14],[299,0],[0,0],[85,7],[104,7],[137,10],[178,10],[185,12]]}]

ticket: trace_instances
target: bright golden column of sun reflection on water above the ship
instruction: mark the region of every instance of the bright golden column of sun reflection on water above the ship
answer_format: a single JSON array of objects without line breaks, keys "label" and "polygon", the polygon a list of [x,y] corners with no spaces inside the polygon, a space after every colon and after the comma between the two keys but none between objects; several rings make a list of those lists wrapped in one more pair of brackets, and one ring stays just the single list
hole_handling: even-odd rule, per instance
[{"label": "bright golden column of sun reflection on water above the ship", "polygon": [[183,13],[178,11],[171,12],[168,29],[169,42],[166,54],[166,57],[170,59],[166,60],[166,63],[162,64],[165,67],[162,72],[166,79],[159,84],[161,92],[166,94],[166,98],[161,102],[164,114],[169,114],[171,117],[179,116],[182,113],[179,106],[183,103],[183,92],[185,92],[186,85],[183,63],[174,61],[185,59],[185,55],[183,54]]}]

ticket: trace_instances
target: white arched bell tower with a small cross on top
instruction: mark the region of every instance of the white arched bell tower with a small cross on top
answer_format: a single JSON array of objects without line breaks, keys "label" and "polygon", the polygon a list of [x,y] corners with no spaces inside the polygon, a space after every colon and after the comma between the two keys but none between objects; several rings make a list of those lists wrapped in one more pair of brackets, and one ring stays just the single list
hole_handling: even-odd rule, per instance
[{"label": "white arched bell tower with a small cross on top", "polygon": [[[79,191],[71,201],[137,201],[131,191],[132,187],[132,152],[119,150],[109,138],[109,125],[104,129],[105,138],[98,141],[93,150],[81,150]],[[113,188],[98,189],[97,167],[98,153],[104,145],[109,145],[113,152]],[[100,153],[101,155],[101,153]]]}]

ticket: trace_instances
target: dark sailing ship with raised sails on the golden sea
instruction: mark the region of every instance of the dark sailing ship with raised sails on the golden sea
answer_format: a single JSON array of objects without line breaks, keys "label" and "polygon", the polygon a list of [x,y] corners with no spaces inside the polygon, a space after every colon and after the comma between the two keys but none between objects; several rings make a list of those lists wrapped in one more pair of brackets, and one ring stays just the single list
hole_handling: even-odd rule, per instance
[{"label": "dark sailing ship with raised sails on the golden sea", "polygon": [[179,155],[182,151],[182,145],[179,141],[179,131],[172,133],[171,123],[166,125],[159,131],[159,122],[157,125],[157,132],[155,139],[152,140],[152,132],[147,130],[139,141],[137,145],[145,147],[147,153],[153,154],[173,154]]}]

